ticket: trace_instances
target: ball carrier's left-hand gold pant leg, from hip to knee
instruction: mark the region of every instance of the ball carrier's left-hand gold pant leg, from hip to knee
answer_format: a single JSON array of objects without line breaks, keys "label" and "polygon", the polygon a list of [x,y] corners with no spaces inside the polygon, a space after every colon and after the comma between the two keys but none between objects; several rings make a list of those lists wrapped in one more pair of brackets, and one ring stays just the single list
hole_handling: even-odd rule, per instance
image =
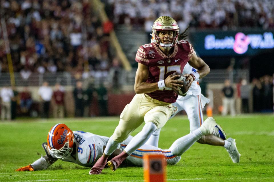
[{"label": "ball carrier's left-hand gold pant leg, from hip to knee", "polygon": [[120,115],[120,121],[116,127],[112,139],[116,142],[124,141],[144,121],[140,115],[140,102],[142,96],[136,94],[130,104],[127,104]]}]

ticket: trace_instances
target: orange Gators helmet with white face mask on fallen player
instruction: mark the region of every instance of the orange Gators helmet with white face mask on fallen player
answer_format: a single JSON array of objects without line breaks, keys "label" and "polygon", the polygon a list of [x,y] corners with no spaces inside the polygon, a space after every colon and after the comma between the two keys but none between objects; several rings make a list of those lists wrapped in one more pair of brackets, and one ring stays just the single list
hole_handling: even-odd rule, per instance
[{"label": "orange Gators helmet with white face mask on fallen player", "polygon": [[49,130],[47,143],[56,158],[67,159],[73,150],[74,134],[67,125],[59,123]]}]

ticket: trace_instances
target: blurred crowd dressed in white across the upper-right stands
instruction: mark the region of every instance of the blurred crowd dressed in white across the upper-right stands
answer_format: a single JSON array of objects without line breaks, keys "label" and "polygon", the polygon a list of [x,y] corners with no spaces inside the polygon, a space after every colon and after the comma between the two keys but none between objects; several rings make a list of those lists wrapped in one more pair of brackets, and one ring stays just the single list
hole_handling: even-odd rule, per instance
[{"label": "blurred crowd dressed in white across the upper-right stands", "polygon": [[114,7],[114,22],[145,25],[159,16],[171,16],[181,30],[189,24],[200,28],[274,27],[272,0],[108,0]]}]

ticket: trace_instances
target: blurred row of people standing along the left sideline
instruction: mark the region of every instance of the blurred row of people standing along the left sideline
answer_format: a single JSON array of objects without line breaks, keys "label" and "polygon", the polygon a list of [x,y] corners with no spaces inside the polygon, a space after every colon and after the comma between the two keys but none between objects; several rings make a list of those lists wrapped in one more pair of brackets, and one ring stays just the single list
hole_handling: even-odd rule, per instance
[{"label": "blurred row of people standing along the left sideline", "polygon": [[[36,92],[32,92],[28,86],[22,91],[15,86],[2,87],[1,120],[16,119],[17,116],[64,118],[108,115],[108,90],[104,84],[94,88],[92,84],[83,86],[82,81],[77,81],[70,92],[59,83],[52,88],[45,81]],[[34,94],[39,95],[38,101],[33,99]]]}]

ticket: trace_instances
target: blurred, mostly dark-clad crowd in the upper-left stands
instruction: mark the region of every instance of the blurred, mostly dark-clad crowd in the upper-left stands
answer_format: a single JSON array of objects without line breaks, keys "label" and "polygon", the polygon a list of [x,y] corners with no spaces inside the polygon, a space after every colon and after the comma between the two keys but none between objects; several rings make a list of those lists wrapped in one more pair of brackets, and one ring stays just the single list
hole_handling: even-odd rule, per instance
[{"label": "blurred, mostly dark-clad crowd in the upper-left stands", "polygon": [[[103,77],[110,66],[119,66],[109,53],[109,30],[103,28],[88,0],[0,3],[1,17],[7,20],[13,69],[23,78],[33,72],[63,71],[81,78],[87,70]],[[9,72],[2,36],[0,61],[1,72]]]}]

